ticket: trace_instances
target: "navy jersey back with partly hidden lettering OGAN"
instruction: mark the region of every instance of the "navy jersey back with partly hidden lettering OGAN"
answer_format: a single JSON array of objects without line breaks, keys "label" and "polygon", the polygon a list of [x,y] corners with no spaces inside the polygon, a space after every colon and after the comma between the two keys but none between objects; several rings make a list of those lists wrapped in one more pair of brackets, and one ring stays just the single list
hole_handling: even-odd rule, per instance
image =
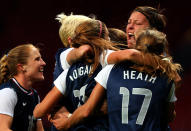
[{"label": "navy jersey back with partly hidden lettering OGAN", "polygon": [[94,77],[101,69],[99,65],[90,76],[90,64],[78,62],[70,67],[66,77],[66,96],[71,100],[73,110],[86,102],[96,84]]}]

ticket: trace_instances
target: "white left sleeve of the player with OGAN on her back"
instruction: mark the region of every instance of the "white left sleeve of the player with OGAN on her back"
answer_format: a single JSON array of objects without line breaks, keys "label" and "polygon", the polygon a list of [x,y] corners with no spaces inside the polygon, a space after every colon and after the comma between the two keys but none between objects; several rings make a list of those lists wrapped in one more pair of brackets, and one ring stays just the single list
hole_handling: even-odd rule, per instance
[{"label": "white left sleeve of the player with OGAN on her back", "polygon": [[64,70],[54,81],[56,88],[64,95],[66,93],[66,76],[68,69]]}]

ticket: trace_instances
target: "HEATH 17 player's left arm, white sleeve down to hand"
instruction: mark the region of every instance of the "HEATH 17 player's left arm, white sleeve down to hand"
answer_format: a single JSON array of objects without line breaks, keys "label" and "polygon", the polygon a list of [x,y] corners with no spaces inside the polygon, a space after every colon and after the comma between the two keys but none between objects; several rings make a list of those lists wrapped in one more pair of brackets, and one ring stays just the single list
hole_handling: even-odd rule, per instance
[{"label": "HEATH 17 player's left arm, white sleeve down to hand", "polygon": [[107,80],[112,68],[113,65],[108,65],[98,73],[98,75],[95,77],[97,84],[94,87],[87,102],[77,108],[77,110],[74,111],[69,119],[68,116],[63,116],[59,117],[58,119],[52,120],[57,129],[67,130],[68,128],[85,120],[88,116],[94,114],[96,109],[100,110],[100,106],[105,98]]}]

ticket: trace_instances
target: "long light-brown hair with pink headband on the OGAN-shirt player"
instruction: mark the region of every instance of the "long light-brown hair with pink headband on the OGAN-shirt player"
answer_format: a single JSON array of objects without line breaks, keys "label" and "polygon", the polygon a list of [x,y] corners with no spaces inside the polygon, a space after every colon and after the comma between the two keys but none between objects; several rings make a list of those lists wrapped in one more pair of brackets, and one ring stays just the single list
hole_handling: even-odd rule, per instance
[{"label": "long light-brown hair with pink headband on the OGAN-shirt player", "polygon": [[105,40],[106,33],[108,33],[106,25],[99,20],[83,22],[75,30],[76,35],[72,38],[72,46],[77,48],[88,44],[93,49],[93,56],[86,60],[88,63],[93,63],[90,75],[99,65],[101,53],[105,56],[106,49],[118,50],[110,41]]}]

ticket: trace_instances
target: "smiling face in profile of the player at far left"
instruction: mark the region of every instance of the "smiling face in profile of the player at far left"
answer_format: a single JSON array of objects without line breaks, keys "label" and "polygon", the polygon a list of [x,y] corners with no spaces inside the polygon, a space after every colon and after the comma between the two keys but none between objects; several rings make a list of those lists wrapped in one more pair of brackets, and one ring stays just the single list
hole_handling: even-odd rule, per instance
[{"label": "smiling face in profile of the player at far left", "polygon": [[43,71],[46,63],[41,58],[39,50],[32,47],[29,55],[27,64],[23,66],[25,76],[29,78],[31,82],[44,80]]}]

